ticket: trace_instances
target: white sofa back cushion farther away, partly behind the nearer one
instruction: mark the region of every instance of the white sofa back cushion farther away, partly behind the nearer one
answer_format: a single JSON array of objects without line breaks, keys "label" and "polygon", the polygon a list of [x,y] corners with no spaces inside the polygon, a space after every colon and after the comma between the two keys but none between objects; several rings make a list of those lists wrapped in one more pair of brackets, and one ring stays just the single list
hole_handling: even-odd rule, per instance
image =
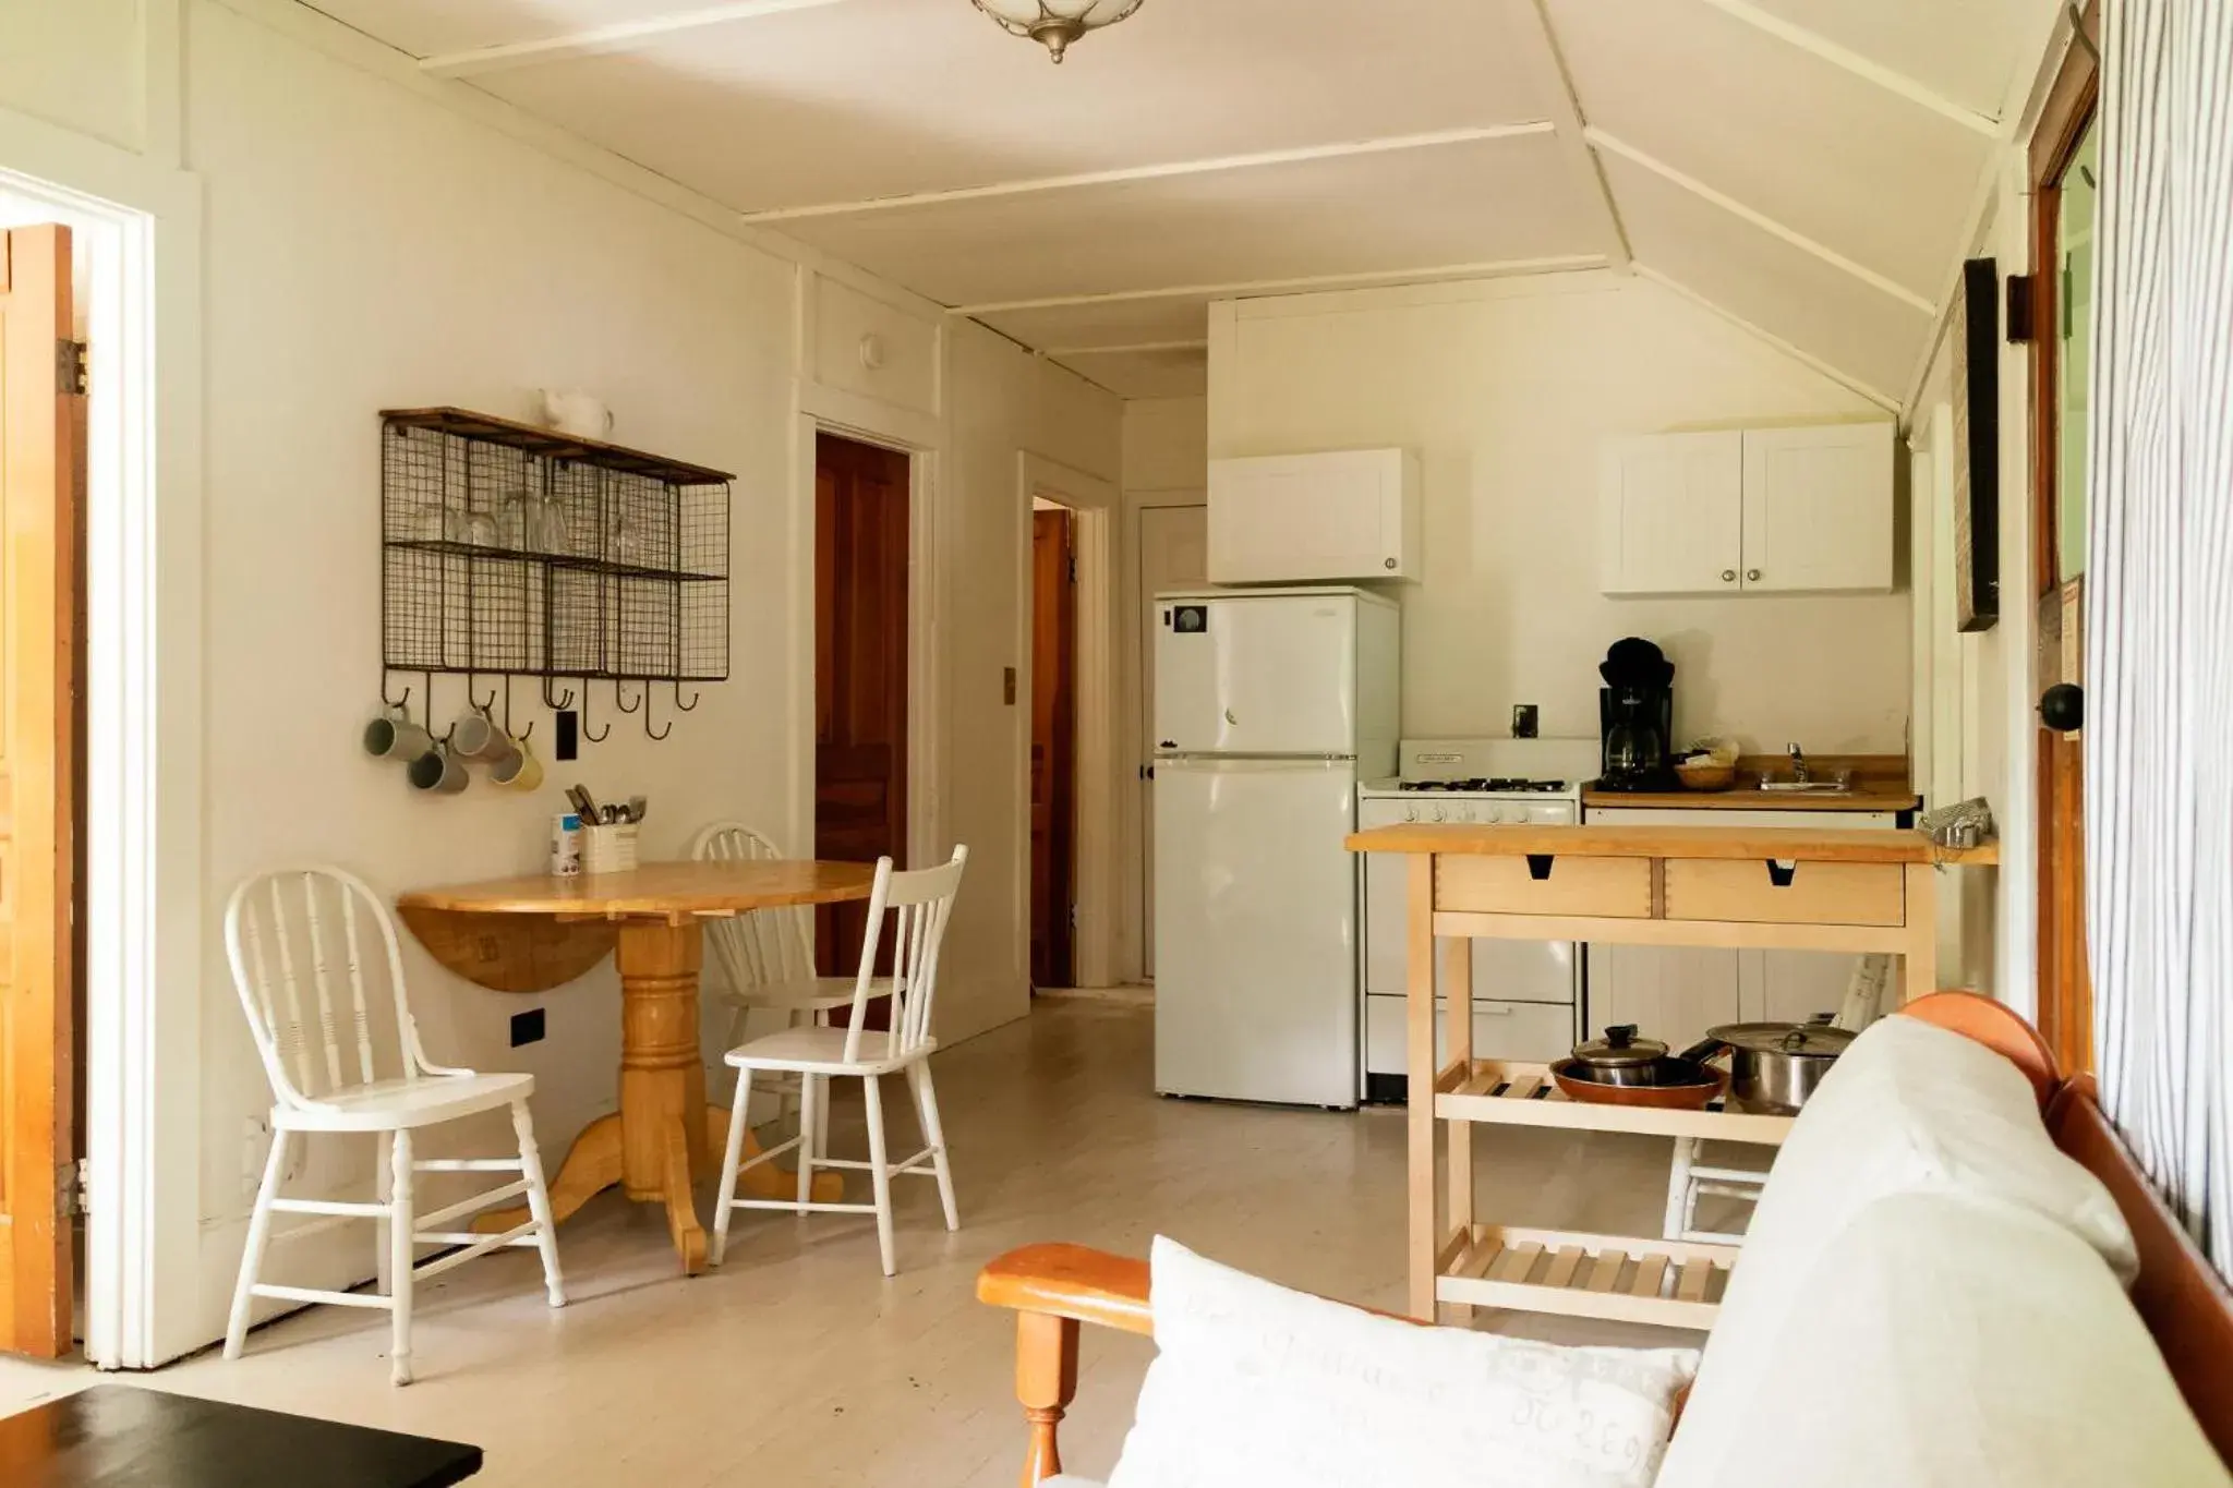
[{"label": "white sofa back cushion farther away, partly behind the nearer one", "polygon": [[2014,1064],[1961,1033],[1885,1017],[1838,1057],[1775,1156],[1670,1466],[1693,1452],[1724,1461],[1757,1432],[1771,1345],[1806,1310],[1815,1260],[1876,1200],[1932,1191],[2036,1214],[2126,1281],[2139,1267],[2117,1200],[2057,1151]]}]

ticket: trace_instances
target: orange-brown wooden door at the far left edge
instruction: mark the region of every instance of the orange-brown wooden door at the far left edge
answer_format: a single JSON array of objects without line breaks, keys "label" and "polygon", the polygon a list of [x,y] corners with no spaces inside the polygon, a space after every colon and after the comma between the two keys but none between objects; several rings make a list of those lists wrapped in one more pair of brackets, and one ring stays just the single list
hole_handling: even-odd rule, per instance
[{"label": "orange-brown wooden door at the far left edge", "polygon": [[[69,1350],[83,397],[69,230],[0,232],[0,1347]],[[65,384],[67,377],[67,384]]]}]

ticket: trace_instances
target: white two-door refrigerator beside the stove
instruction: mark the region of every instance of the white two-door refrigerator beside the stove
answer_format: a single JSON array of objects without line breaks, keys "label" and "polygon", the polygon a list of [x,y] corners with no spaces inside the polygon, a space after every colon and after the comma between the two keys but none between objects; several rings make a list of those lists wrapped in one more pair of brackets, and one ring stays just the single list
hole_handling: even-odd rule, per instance
[{"label": "white two-door refrigerator beside the stove", "polygon": [[1358,1104],[1358,776],[1396,765],[1398,609],[1154,598],[1154,1089]]}]

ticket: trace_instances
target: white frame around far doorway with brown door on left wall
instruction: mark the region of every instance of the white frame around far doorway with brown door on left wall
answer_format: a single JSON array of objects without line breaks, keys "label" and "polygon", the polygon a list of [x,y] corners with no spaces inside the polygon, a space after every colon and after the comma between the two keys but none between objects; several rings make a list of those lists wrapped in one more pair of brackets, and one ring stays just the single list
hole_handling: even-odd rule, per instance
[{"label": "white frame around far doorway with brown door on left wall", "polygon": [[[1070,892],[1079,906],[1072,975],[1079,986],[1116,982],[1116,484],[1061,460],[1016,453],[1016,759],[1032,759],[1032,497],[1074,518],[1079,560],[1076,830]],[[1032,924],[1032,772],[1016,781],[1016,904]]]}]

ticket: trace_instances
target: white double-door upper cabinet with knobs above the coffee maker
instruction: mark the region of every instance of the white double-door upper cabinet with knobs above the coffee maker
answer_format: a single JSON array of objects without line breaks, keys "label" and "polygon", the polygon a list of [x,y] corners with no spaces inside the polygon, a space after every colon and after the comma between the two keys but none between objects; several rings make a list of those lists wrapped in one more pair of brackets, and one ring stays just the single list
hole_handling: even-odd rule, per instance
[{"label": "white double-door upper cabinet with knobs above the coffee maker", "polygon": [[1617,439],[1606,593],[1891,589],[1891,424]]}]

